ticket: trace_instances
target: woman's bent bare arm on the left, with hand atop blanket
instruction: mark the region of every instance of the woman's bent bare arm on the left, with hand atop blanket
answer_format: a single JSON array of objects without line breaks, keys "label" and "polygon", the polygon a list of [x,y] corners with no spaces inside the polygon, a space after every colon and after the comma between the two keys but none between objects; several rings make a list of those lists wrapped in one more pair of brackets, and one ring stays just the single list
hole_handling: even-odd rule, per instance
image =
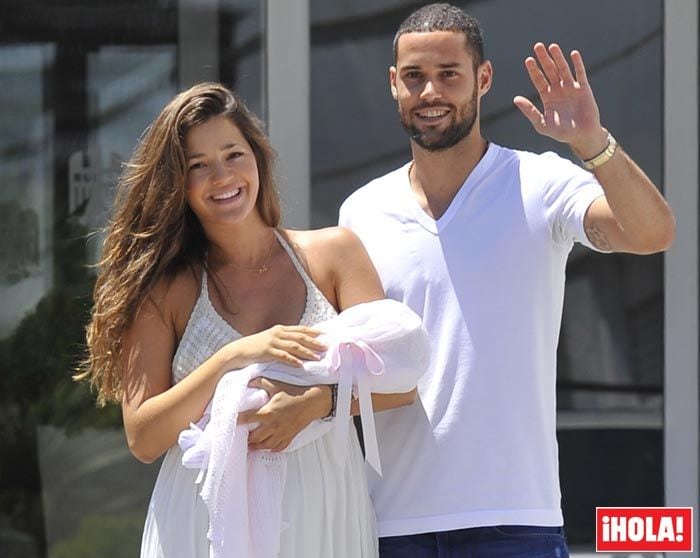
[{"label": "woman's bent bare arm on the left, with hand atop blanket", "polygon": [[157,287],[123,338],[124,429],[129,449],[145,463],[160,457],[190,422],[201,418],[227,371],[265,360],[301,366],[301,359],[316,358],[314,351],[324,348],[311,328],[275,326],[225,345],[171,385],[175,309],[191,308],[188,298],[191,295],[186,296],[177,283]]}]

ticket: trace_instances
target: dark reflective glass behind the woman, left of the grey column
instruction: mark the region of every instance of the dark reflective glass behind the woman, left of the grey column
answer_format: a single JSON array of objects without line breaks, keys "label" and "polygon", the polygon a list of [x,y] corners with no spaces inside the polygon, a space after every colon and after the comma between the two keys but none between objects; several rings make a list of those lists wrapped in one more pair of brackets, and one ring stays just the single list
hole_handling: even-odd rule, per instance
[{"label": "dark reflective glass behind the woman, left of the grey column", "polygon": [[0,6],[0,556],[133,557],[158,464],[138,463],[120,409],[71,379],[89,266],[121,165],[181,87],[219,79],[264,108],[262,6]]}]

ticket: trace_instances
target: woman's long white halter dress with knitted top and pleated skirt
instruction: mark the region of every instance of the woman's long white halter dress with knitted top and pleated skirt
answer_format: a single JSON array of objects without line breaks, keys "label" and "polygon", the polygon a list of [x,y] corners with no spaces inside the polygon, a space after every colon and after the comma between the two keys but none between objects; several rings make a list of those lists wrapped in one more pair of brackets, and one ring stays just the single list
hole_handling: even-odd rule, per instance
[{"label": "woman's long white halter dress with knitted top and pleated skirt", "polygon": [[[277,238],[306,285],[306,307],[299,324],[312,326],[337,315],[284,238],[280,234]],[[214,309],[203,272],[199,298],[173,358],[173,383],[240,337]],[[334,458],[332,431],[296,451],[279,454],[287,461],[279,558],[378,555],[363,458],[355,429],[350,431],[343,471]],[[168,450],[148,507],[141,558],[209,558],[209,517],[199,496],[201,485],[195,484],[197,474],[182,465],[178,445]]]}]

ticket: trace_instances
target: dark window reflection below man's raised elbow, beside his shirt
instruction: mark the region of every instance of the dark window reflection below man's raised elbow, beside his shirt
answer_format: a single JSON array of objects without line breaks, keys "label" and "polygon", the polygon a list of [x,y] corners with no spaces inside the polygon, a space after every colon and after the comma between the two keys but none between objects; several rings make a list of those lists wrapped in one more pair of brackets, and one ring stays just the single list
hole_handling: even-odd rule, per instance
[{"label": "dark window reflection below man's raised elbow, beside his shirt", "polygon": [[582,252],[567,268],[559,408],[660,416],[662,257]]}]

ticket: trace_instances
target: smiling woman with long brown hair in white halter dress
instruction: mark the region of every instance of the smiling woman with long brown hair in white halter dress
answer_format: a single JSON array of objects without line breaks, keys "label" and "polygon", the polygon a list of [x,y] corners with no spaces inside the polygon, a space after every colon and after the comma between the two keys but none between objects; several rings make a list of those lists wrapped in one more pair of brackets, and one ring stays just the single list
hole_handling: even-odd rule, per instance
[{"label": "smiling woman with long brown hair in white halter dress", "polygon": [[[224,373],[277,360],[301,366],[325,347],[311,326],[383,298],[361,243],[345,229],[278,229],[272,149],[258,120],[225,87],[176,96],[147,129],[118,186],[79,376],[98,401],[121,401],[129,448],[149,463],[166,453],[149,507],[142,556],[208,557],[207,511],[181,487],[178,435],[204,413]],[[332,414],[332,388],[264,379],[270,402],[252,449],[283,450]],[[375,410],[415,391],[374,397]],[[280,556],[376,555],[363,463],[352,433],[345,466],[329,436],[283,454]]]}]

